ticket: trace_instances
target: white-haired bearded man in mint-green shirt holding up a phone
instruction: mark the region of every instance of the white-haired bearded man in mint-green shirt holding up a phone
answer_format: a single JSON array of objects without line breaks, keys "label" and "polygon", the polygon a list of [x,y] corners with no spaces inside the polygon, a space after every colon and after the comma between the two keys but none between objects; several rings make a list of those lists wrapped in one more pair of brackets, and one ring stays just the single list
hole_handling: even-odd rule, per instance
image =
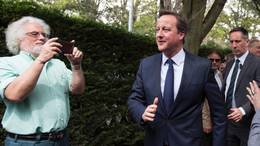
[{"label": "white-haired bearded man in mint-green shirt holding up a phone", "polygon": [[65,130],[69,92],[84,90],[83,53],[74,47],[72,54],[65,54],[72,71],[61,60],[52,59],[61,53],[61,44],[53,42],[58,38],[48,40],[50,27],[35,17],[12,22],[5,33],[7,47],[15,55],[0,58],[5,145],[69,145]]}]

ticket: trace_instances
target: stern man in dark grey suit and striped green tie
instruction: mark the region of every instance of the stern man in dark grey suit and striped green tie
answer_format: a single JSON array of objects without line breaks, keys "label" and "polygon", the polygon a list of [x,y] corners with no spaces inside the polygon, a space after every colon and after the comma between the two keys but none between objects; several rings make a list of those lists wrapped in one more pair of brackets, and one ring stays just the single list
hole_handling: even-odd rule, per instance
[{"label": "stern man in dark grey suit and striped green tie", "polygon": [[246,98],[246,87],[255,80],[260,85],[260,58],[248,51],[248,32],[235,27],[229,32],[230,47],[235,59],[226,65],[221,88],[228,116],[228,145],[247,145],[254,107]]}]

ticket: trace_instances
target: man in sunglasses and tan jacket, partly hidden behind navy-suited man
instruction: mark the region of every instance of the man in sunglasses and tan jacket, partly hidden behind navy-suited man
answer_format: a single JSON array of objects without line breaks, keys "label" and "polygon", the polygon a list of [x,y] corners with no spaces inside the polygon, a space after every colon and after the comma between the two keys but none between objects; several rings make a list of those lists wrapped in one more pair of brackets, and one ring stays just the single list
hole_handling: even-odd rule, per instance
[{"label": "man in sunglasses and tan jacket, partly hidden behind navy-suited man", "polygon": [[[214,76],[217,81],[219,88],[221,89],[223,83],[223,75],[220,73],[218,68],[220,68],[220,56],[219,50],[211,49],[207,53],[207,58],[212,62],[212,70],[214,71]],[[205,98],[204,105],[202,108],[202,124],[204,131],[203,145],[212,145],[212,123],[209,112],[208,100]]]}]

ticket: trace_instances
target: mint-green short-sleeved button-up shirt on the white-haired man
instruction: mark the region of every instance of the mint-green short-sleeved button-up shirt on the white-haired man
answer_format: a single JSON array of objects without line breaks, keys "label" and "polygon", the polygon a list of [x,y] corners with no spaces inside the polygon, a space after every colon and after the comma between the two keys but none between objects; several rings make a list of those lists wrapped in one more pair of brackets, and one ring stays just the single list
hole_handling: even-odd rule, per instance
[{"label": "mint-green short-sleeved button-up shirt on the white-haired man", "polygon": [[58,59],[45,63],[34,90],[23,101],[5,98],[4,90],[35,60],[20,51],[19,55],[0,58],[0,96],[6,105],[3,128],[16,134],[59,131],[69,121],[69,89],[72,71]]}]

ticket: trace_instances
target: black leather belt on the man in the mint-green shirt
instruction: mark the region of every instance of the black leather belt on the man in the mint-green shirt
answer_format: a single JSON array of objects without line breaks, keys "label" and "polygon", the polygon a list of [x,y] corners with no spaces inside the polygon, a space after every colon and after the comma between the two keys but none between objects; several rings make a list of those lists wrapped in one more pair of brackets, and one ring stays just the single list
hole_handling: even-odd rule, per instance
[{"label": "black leather belt on the man in the mint-green shirt", "polygon": [[[11,137],[15,138],[15,133],[6,132],[6,134]],[[48,141],[54,141],[54,140],[60,140],[66,135],[66,130],[60,130],[58,132],[51,132],[51,133],[39,133],[39,134],[17,134],[17,140],[28,140],[28,141],[35,141],[37,135],[40,135],[40,140],[48,140]]]}]

